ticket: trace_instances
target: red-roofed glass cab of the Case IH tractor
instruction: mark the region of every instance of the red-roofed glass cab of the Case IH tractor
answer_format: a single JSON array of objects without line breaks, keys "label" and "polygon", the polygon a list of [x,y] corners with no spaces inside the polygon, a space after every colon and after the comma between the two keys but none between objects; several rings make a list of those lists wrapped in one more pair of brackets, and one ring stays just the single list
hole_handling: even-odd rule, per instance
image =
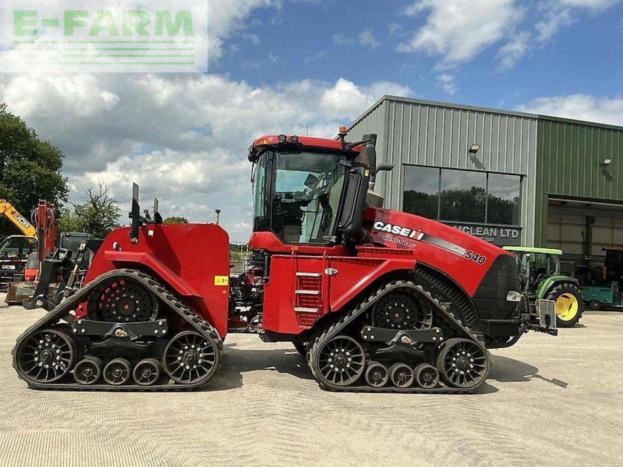
[{"label": "red-roofed glass cab of the Case IH tractor", "polygon": [[[283,246],[325,248],[369,240],[363,228],[369,183],[377,170],[390,167],[376,167],[375,134],[346,143],[341,128],[340,136],[281,134],[254,142],[249,151],[254,164],[254,234],[277,237]],[[254,235],[251,246],[271,250],[265,245],[269,237]]]}]

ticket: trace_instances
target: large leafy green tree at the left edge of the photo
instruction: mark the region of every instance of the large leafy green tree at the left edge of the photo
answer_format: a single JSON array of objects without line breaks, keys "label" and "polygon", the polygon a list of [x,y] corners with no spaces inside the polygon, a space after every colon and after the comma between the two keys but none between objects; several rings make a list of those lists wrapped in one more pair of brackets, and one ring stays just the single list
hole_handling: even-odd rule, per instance
[{"label": "large leafy green tree at the left edge of the photo", "polygon": [[[0,104],[0,198],[9,200],[29,217],[39,199],[59,204],[67,200],[67,179],[60,174],[63,153],[41,141],[19,116]],[[0,219],[0,234],[14,234],[7,219]]]}]

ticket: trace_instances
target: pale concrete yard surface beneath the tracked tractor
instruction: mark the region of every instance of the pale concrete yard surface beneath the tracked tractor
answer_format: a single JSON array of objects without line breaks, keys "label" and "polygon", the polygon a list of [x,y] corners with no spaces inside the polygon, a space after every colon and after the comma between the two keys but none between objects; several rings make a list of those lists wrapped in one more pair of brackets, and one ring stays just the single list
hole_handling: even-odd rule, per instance
[{"label": "pale concrete yard surface beneath the tracked tractor", "polygon": [[254,334],[206,390],[30,390],[11,349],[42,313],[0,305],[0,467],[623,466],[622,313],[492,351],[473,395],[325,392]]}]

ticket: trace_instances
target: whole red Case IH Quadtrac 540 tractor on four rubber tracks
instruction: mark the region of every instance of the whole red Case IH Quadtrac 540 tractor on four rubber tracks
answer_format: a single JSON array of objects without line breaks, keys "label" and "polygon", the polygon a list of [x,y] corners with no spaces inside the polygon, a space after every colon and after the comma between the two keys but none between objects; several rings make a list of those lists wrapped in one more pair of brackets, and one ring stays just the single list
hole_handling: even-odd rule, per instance
[{"label": "whole red Case IH Quadtrac 540 tractor on four rubber tracks", "polygon": [[[249,272],[229,278],[214,224],[142,217],[106,238],[83,287],[14,347],[38,389],[192,389],[222,362],[228,328],[290,341],[327,390],[469,392],[488,348],[534,329],[511,253],[416,215],[369,207],[376,135],[265,136],[251,146]],[[528,308],[525,308],[528,309]],[[245,324],[246,323],[246,324]]]}]

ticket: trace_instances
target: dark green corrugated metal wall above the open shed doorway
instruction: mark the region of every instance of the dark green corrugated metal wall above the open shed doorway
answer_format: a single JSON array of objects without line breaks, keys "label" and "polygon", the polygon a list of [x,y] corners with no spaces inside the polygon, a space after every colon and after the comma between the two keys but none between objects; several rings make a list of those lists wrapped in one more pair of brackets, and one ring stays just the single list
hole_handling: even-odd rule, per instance
[{"label": "dark green corrugated metal wall above the open shed doorway", "polygon": [[537,151],[536,243],[546,245],[548,196],[623,201],[623,130],[543,117]]}]

